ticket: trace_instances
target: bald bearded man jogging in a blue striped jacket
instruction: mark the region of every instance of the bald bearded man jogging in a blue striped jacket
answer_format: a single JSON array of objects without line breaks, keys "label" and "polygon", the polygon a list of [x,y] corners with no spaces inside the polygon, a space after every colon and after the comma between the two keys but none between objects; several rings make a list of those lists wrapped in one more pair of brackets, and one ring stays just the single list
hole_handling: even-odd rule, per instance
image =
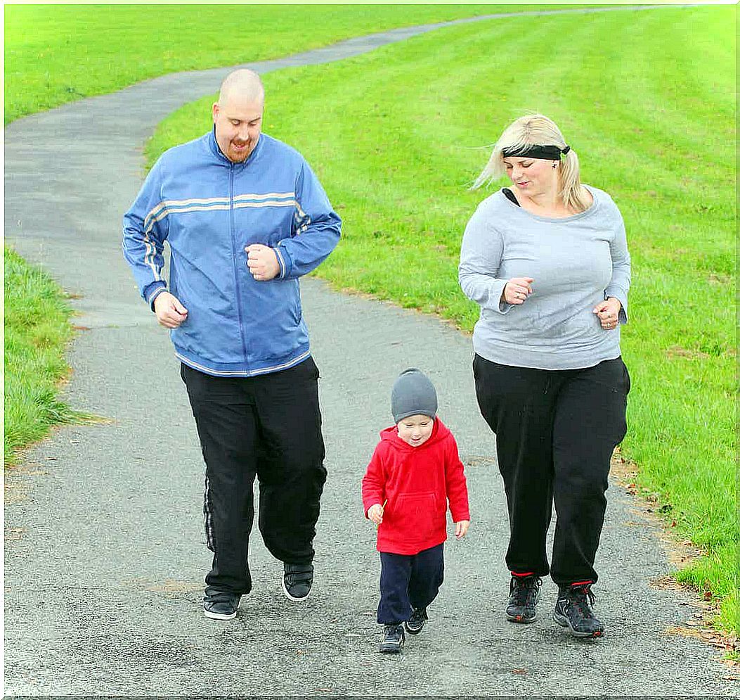
[{"label": "bald bearded man jogging in a blue striped jacket", "polygon": [[212,132],[166,151],[124,216],[124,256],[171,331],[206,461],[203,610],[219,620],[252,588],[255,475],[260,532],[293,601],[313,583],[326,481],[298,278],[332,252],[341,221],[303,157],[260,133],[263,106],[256,73],[229,74]]}]

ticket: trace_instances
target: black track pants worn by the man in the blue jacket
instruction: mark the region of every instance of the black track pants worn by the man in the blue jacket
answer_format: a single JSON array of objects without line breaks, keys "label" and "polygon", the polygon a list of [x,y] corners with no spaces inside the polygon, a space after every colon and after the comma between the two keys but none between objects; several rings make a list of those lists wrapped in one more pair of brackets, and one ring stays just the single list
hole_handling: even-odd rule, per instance
[{"label": "black track pants worn by the man in the blue jacket", "polygon": [[250,378],[210,376],[185,364],[181,376],[206,461],[203,516],[213,552],[206,585],[249,593],[255,475],[267,549],[291,564],[314,558],[326,481],[318,370],[309,357],[288,370]]}]

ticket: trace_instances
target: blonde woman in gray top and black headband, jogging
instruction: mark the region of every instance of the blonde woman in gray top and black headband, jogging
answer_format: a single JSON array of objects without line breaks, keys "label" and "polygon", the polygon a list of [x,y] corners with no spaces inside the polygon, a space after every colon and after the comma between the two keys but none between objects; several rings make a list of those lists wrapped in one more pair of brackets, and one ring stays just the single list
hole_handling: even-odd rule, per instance
[{"label": "blonde woman in gray top and black headband, jogging", "polygon": [[474,187],[504,174],[511,188],[482,201],[468,222],[459,279],[480,304],[475,387],[508,504],[506,616],[534,621],[550,573],[554,620],[575,636],[602,636],[593,563],[630,389],[619,350],[630,286],[625,225],[607,193],[580,183],[576,153],[545,116],[507,127]]}]

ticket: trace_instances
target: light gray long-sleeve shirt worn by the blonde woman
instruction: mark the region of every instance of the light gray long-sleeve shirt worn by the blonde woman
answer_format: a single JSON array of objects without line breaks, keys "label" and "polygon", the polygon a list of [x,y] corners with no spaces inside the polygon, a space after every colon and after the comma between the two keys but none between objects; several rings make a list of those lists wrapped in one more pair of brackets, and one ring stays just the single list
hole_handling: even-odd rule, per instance
[{"label": "light gray long-sleeve shirt worn by the blonde woman", "polygon": [[[630,254],[610,196],[588,187],[593,204],[565,219],[536,216],[497,192],[468,221],[458,279],[480,305],[473,347],[498,364],[542,370],[593,367],[619,357],[619,324],[604,330],[593,313],[608,296],[627,322]],[[501,301],[512,277],[531,277],[524,304]]]}]

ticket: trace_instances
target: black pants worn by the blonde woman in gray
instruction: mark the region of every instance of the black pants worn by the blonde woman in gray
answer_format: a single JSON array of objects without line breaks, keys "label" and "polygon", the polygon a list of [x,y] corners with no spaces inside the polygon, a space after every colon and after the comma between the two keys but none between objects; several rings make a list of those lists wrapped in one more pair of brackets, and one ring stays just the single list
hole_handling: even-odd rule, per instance
[{"label": "black pants worn by the blonde woman in gray", "polygon": [[496,433],[511,528],[506,565],[550,572],[554,501],[553,581],[595,582],[610,459],[627,432],[627,367],[616,358],[582,370],[535,370],[476,355],[473,373],[480,411]]}]

